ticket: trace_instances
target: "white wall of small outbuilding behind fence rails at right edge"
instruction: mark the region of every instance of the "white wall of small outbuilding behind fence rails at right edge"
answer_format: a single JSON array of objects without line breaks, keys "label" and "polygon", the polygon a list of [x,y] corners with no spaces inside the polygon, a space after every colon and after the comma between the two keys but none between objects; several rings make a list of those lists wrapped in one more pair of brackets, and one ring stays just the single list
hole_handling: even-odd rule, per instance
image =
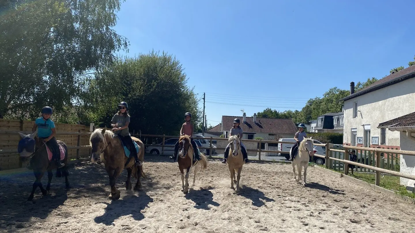
[{"label": "white wall of small outbuilding behind fence rails at right edge", "polygon": [[[406,136],[406,132],[400,133],[400,149],[415,151],[415,137],[410,139]],[[413,133],[414,134],[414,133]],[[400,155],[400,172],[415,175],[415,156],[413,155]],[[400,178],[400,184],[407,187],[414,188],[415,180],[409,180],[406,178]],[[409,188],[409,189],[411,189]]]}]

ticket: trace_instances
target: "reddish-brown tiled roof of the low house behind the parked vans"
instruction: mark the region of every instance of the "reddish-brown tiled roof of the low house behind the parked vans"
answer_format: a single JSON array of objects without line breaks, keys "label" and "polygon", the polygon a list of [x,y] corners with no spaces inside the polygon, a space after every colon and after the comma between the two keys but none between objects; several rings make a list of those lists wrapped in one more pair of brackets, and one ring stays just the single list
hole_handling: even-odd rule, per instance
[{"label": "reddish-brown tiled roof of the low house behind the parked vans", "polygon": [[222,116],[224,130],[229,131],[235,118],[241,120],[240,126],[244,132],[295,134],[298,131],[293,119],[257,117],[257,122],[254,123],[254,118],[248,116],[247,122],[242,122],[244,119],[242,116]]}]

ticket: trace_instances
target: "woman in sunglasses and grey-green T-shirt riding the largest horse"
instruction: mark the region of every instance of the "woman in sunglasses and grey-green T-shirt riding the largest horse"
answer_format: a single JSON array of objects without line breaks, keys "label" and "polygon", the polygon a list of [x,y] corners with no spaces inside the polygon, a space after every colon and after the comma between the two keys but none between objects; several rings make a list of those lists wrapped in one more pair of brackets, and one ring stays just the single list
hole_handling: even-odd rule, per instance
[{"label": "woman in sunglasses and grey-green T-shirt riding the largest horse", "polygon": [[128,145],[127,147],[129,147],[130,153],[134,155],[135,165],[140,166],[142,165],[142,162],[138,159],[138,152],[128,130],[130,122],[130,116],[127,112],[128,104],[126,102],[120,102],[120,104],[118,104],[118,109],[118,112],[112,117],[111,130]]}]

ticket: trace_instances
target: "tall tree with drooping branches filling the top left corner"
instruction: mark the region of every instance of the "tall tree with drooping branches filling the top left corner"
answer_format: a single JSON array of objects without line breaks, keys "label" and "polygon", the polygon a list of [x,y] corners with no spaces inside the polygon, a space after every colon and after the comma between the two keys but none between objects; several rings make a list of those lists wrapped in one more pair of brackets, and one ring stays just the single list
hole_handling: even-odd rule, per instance
[{"label": "tall tree with drooping branches filling the top left corner", "polygon": [[85,72],[112,63],[128,41],[111,27],[122,0],[8,0],[0,4],[0,117],[66,111]]}]

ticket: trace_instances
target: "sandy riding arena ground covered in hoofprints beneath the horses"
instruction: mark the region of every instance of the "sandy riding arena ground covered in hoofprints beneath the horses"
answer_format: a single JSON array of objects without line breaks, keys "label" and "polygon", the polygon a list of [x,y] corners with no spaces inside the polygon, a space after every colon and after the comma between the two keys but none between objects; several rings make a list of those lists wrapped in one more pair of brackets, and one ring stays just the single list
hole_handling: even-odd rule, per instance
[{"label": "sandy riding arena ground covered in hoofprints beneath the horses", "polygon": [[[54,177],[49,196],[37,189],[34,203],[26,202],[33,174],[2,176],[0,232],[415,232],[415,205],[316,167],[308,168],[304,187],[293,180],[289,164],[244,165],[239,196],[219,161],[198,171],[186,195],[177,163],[146,156],[143,168],[144,190],[127,194],[123,171],[117,201],[108,199],[103,165],[76,164],[70,168],[71,189]],[[47,175],[42,181],[45,187]]]}]

